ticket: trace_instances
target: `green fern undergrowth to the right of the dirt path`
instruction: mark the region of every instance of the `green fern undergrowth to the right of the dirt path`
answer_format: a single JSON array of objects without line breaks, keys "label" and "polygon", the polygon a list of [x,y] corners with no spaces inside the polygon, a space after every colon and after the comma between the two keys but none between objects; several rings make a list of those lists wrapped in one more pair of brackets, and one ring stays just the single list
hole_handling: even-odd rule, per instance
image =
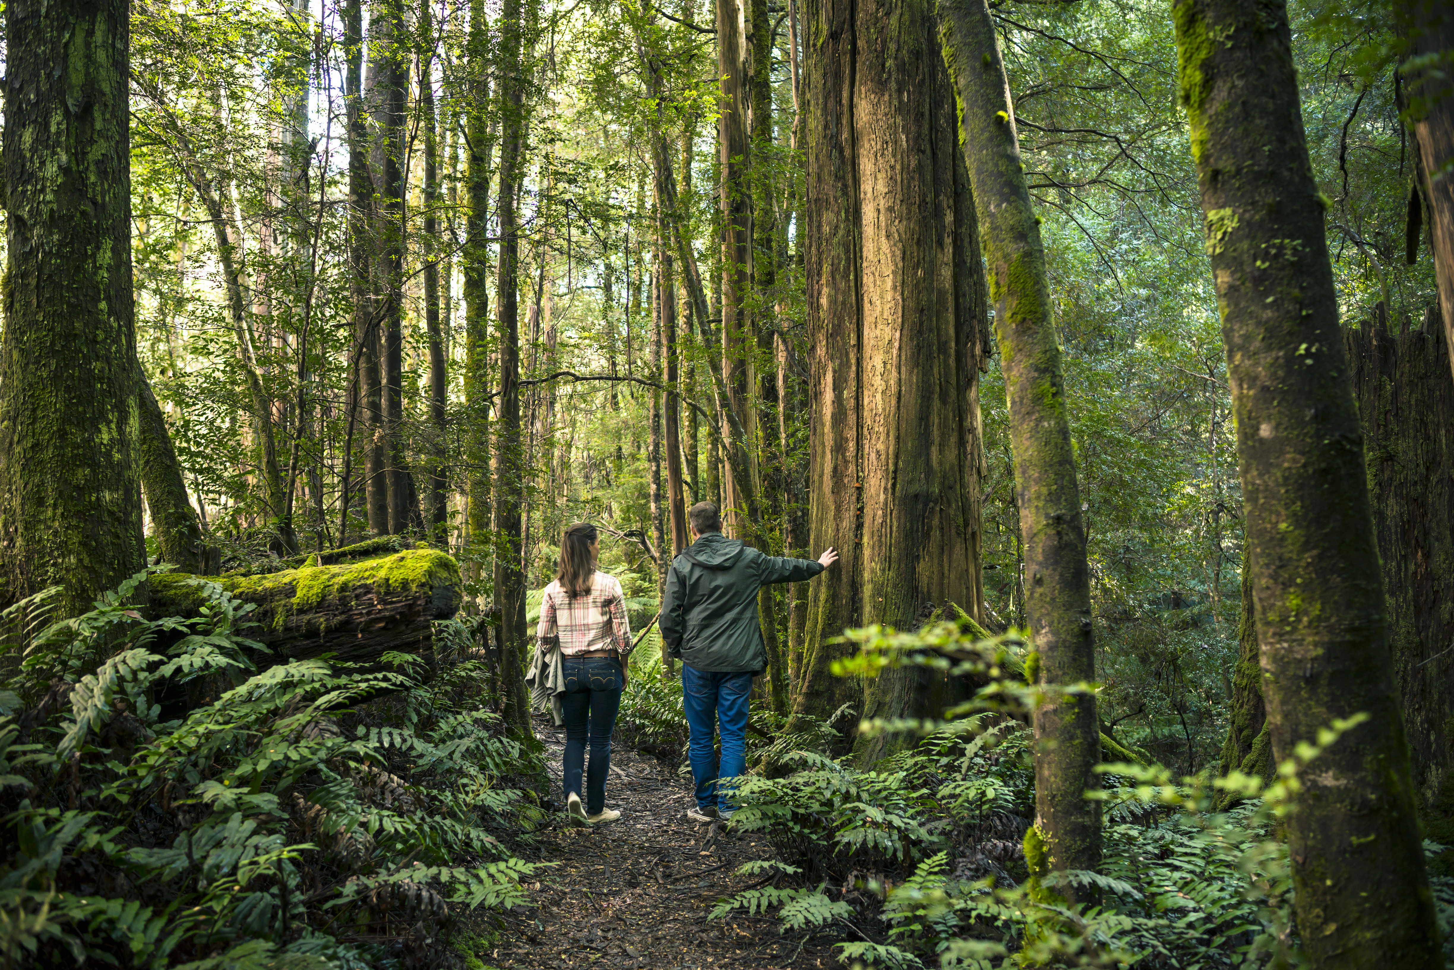
[{"label": "green fern undergrowth to the right of the dirt path", "polygon": [[[782,931],[851,923],[859,934],[836,947],[839,958],[872,970],[1303,966],[1280,823],[1296,810],[1298,774],[1358,718],[1309,739],[1271,784],[1102,763],[1104,865],[1051,874],[1032,829],[1025,714],[1045,688],[1022,681],[1025,641],[977,640],[954,622],[848,636],[861,650],[839,665],[843,675],[916,663],[979,689],[948,720],[865,724],[919,737],[868,766],[827,753],[851,711],[794,734],[755,711],[769,730],[749,736],[733,826],[765,839],[774,858],[743,865],[739,874],[760,883],[718,900],[712,919],[771,913]],[[679,711],[669,682],[640,678],[622,721],[638,745],[664,749],[682,742]],[[1426,843],[1431,855],[1442,849]],[[1099,902],[1066,902],[1067,881],[1093,887]],[[1454,880],[1435,875],[1434,891],[1447,939]]]}]

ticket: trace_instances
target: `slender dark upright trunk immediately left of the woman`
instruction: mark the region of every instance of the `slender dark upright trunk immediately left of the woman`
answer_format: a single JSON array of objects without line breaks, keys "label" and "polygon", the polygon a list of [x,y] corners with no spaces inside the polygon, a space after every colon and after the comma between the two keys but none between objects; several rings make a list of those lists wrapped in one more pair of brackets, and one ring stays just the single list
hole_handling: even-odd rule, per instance
[{"label": "slender dark upright trunk immediately left of the woman", "polygon": [[500,609],[500,684],[506,724],[531,734],[525,697],[525,573],[521,508],[525,454],[521,436],[519,224],[516,193],[525,143],[525,76],[521,0],[505,0],[500,15],[500,262],[496,268],[496,342],[500,353],[494,478],[494,602]]}]

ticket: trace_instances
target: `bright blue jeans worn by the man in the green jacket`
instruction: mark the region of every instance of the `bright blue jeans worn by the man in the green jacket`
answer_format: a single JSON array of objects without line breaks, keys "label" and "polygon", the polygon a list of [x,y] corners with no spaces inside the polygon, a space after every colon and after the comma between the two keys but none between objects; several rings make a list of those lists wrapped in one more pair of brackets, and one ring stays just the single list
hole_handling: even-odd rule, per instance
[{"label": "bright blue jeans worn by the man in the green jacket", "polygon": [[[682,665],[682,707],[692,730],[688,758],[696,782],[696,807],[717,809],[728,816],[730,793],[718,791],[718,778],[736,778],[747,771],[747,700],[752,697],[752,672],[720,673],[695,670]],[[712,730],[723,736],[721,765],[712,745]]]}]

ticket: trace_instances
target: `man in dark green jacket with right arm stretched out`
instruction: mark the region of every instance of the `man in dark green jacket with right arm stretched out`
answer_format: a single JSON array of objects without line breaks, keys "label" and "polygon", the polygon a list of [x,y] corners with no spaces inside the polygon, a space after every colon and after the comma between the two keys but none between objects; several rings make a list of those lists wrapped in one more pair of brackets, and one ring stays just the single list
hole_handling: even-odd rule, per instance
[{"label": "man in dark green jacket with right arm stretched out", "polygon": [[[682,707],[692,730],[689,758],[696,781],[694,822],[733,813],[718,778],[747,769],[747,698],[752,679],[768,666],[758,625],[758,590],[769,583],[801,583],[838,561],[838,550],[810,558],[778,558],[721,534],[711,502],[698,502],[686,518],[692,545],[672,560],[662,601],[662,638],[682,660]],[[712,745],[721,731],[721,765]]]}]

